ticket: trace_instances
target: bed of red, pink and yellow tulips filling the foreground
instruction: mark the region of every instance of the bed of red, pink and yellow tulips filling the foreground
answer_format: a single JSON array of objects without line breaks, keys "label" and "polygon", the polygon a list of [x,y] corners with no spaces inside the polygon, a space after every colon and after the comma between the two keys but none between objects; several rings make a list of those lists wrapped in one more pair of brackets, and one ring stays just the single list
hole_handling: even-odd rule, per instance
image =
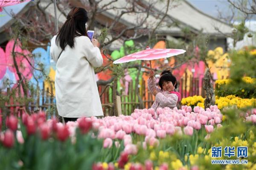
[{"label": "bed of red, pink and yellow tulips filling the foreground", "polygon": [[[1,117],[0,117],[1,118]],[[0,119],[1,170],[256,169],[256,109],[211,106],[135,109],[131,115],[63,124],[44,112]],[[212,147],[247,147],[248,156],[212,157]],[[247,160],[212,164],[211,160]]]}]

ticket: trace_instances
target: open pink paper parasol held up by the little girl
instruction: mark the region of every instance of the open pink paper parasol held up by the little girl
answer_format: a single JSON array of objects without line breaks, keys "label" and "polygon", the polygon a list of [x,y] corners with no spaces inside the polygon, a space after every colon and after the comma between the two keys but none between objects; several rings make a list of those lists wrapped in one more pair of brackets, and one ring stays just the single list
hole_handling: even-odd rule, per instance
[{"label": "open pink paper parasol held up by the little girl", "polygon": [[[145,50],[140,52],[135,52],[130,55],[126,55],[118,60],[114,61],[114,64],[119,63],[127,63],[130,61],[137,61],[137,60],[156,60],[160,58],[168,58],[175,55],[183,54],[186,52],[183,49],[150,49],[148,46]],[[150,63],[151,67],[151,63]]]}]

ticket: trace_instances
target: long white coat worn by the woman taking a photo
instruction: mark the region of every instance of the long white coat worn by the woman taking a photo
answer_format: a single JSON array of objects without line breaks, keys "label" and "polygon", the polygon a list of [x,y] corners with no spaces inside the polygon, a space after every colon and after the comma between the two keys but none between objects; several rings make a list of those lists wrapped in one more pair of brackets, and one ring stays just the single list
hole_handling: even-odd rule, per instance
[{"label": "long white coat worn by the woman taking a photo", "polygon": [[[74,47],[61,47],[51,40],[50,53],[56,62],[55,98],[58,114],[66,118],[103,116],[93,67],[102,66],[98,47],[86,36],[74,38]],[[60,58],[58,59],[59,54]],[[58,61],[57,61],[58,60]]]}]

